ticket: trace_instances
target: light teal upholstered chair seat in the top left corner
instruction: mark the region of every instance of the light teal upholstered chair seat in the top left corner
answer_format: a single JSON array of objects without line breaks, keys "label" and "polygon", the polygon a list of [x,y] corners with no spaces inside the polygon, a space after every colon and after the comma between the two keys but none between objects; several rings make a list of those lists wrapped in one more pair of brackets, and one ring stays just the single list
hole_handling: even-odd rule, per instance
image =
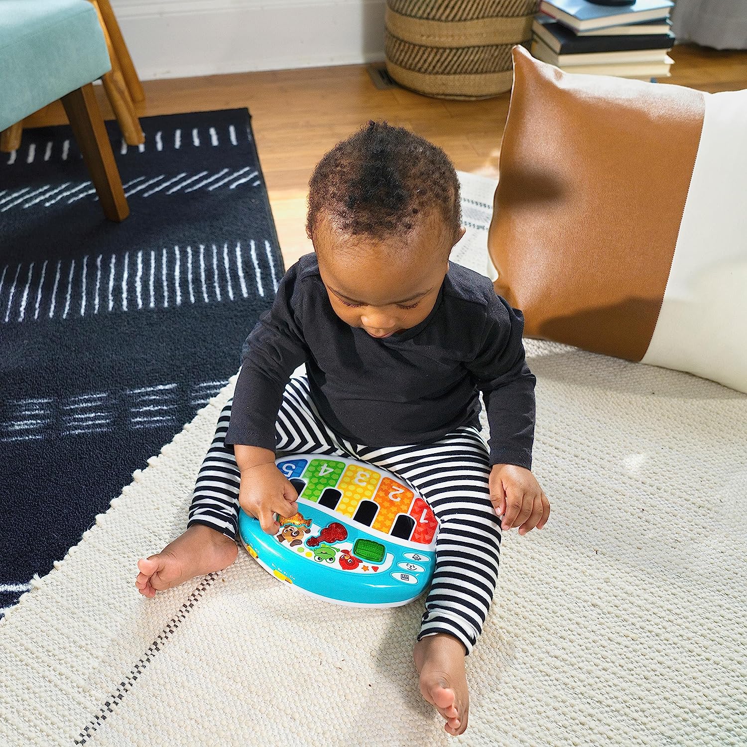
[{"label": "light teal upholstered chair seat in the top left corner", "polygon": [[0,130],[110,69],[87,0],[0,0]]}]

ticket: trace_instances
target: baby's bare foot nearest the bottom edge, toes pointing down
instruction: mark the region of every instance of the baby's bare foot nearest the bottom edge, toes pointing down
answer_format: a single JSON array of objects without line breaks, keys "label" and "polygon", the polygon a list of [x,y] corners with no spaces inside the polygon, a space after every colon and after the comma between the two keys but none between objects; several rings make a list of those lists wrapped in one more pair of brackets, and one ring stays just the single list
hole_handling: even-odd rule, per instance
[{"label": "baby's bare foot nearest the bottom edge, toes pointing down", "polygon": [[436,633],[415,643],[413,656],[423,697],[446,719],[448,734],[462,734],[469,711],[464,645],[447,633]]}]

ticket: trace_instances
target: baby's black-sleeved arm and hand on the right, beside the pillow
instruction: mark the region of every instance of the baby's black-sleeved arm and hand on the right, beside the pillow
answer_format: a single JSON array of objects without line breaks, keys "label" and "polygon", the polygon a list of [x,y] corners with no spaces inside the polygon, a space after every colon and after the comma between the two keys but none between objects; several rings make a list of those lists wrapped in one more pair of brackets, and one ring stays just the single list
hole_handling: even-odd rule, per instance
[{"label": "baby's black-sleeved arm and hand on the right, beside the pillow", "polygon": [[542,529],[550,503],[534,475],[535,376],[524,357],[524,316],[496,296],[489,304],[478,353],[468,363],[477,377],[490,426],[490,496],[504,530]]}]

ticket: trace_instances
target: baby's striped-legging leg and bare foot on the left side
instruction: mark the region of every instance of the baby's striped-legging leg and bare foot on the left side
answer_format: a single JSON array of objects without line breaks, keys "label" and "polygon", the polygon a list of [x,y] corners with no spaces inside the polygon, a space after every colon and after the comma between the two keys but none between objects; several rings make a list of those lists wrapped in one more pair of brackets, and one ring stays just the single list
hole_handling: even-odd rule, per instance
[{"label": "baby's striped-legging leg and bare foot on the left side", "polygon": [[[187,530],[160,553],[140,559],[135,586],[146,597],[194,576],[220,571],[236,560],[238,492],[241,474],[226,444],[232,400],[218,418],[215,436],[197,475]],[[276,450],[342,454],[344,447],[321,421],[305,377],[291,379],[276,423]]]}]

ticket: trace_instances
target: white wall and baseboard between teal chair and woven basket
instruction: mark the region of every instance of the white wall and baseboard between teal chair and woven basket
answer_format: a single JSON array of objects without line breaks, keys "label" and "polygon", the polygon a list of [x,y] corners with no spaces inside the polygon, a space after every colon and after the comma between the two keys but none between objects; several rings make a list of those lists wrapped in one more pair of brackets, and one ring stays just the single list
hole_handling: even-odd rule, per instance
[{"label": "white wall and baseboard between teal chair and woven basket", "polygon": [[385,0],[112,0],[140,78],[384,58]]}]

